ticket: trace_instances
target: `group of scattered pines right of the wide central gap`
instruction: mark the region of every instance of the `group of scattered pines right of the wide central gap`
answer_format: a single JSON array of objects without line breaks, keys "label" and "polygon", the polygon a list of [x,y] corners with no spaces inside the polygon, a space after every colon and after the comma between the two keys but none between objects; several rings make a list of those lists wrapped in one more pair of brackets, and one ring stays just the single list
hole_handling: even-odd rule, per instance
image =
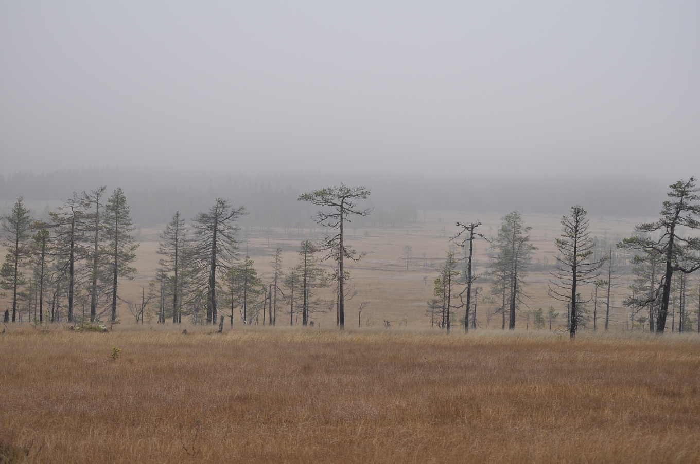
[{"label": "group of scattered pines right of the wide central gap", "polygon": [[[700,269],[700,238],[688,237],[686,233],[700,229],[700,205],[696,202],[700,189],[695,187],[695,178],[672,184],[668,192],[668,201],[664,201],[661,218],[657,222],[638,224],[635,233],[624,238],[615,246],[619,249],[631,250],[633,284],[629,286],[631,295],[624,300],[624,305],[631,311],[631,317],[645,310],[646,314],[637,317],[638,324],[649,324],[649,330],[654,333],[664,333],[669,314],[669,305],[678,303],[678,331],[692,331],[692,314],[697,315],[696,324],[700,333],[700,294],[697,297],[698,307],[689,307],[688,276]],[[598,307],[605,308],[603,322],[604,330],[610,327],[610,296],[616,276],[612,270],[612,248],[608,254],[597,256],[594,252],[596,242],[589,232],[587,211],[580,205],[570,208],[568,215],[561,219],[562,233],[555,239],[559,254],[556,256],[555,270],[550,272],[548,294],[555,300],[566,304],[566,331],[570,338],[575,338],[580,328],[589,326],[598,329]],[[531,253],[537,249],[531,244],[530,226],[525,226],[522,216],[514,211],[505,215],[495,240],[489,240],[485,235],[477,233],[480,222],[470,224],[457,223],[461,230],[453,239],[462,239],[459,245],[468,245],[468,253],[463,258],[467,264],[465,269],[458,269],[456,252],[450,250],[447,257],[437,268],[438,277],[434,281],[433,297],[428,300],[426,315],[430,318],[430,326],[440,327],[449,333],[454,324],[454,315],[463,308],[463,317],[458,324],[463,326],[465,333],[470,328],[477,327],[477,294],[481,287],[474,288],[472,303],[472,287],[476,275],[472,275],[472,246],[474,240],[488,240],[489,270],[484,273],[491,283],[490,295],[482,297],[494,303],[496,310],[487,315],[487,324],[494,314],[501,314],[502,328],[515,328],[516,312],[521,306],[528,307],[528,294],[525,291],[526,273],[531,265]],[[673,275],[679,277],[673,280]],[[583,295],[584,285],[593,285],[594,291],[590,298]],[[460,291],[461,289],[461,291]],[[700,290],[700,287],[699,287]],[[598,300],[601,291],[603,302]],[[500,298],[500,302],[498,302]],[[591,314],[590,303],[594,308]],[[498,304],[500,303],[500,304]],[[543,328],[549,319],[549,329],[552,321],[559,317],[554,306],[550,306],[545,314],[542,308],[521,311],[529,324]],[[454,314],[454,315],[453,315]],[[675,310],[671,312],[675,318]],[[671,330],[675,329],[674,321]]]}]

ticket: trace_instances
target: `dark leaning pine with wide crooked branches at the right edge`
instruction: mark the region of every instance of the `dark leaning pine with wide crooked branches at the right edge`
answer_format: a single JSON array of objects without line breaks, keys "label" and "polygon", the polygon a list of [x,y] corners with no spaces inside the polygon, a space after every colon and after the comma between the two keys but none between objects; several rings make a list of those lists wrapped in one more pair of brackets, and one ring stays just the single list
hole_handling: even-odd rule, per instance
[{"label": "dark leaning pine with wide crooked branches at the right edge", "polygon": [[700,188],[695,187],[696,178],[679,180],[671,184],[668,192],[670,200],[664,201],[661,208],[661,218],[657,222],[638,224],[634,231],[636,235],[625,238],[617,244],[618,247],[638,250],[648,256],[663,256],[663,274],[654,291],[647,300],[638,304],[654,303],[659,298],[661,304],[656,314],[656,331],[664,333],[668,301],[671,296],[671,279],[673,273],[693,273],[700,269],[700,237],[688,237],[685,233],[692,229],[700,229],[700,196],[696,194]]}]

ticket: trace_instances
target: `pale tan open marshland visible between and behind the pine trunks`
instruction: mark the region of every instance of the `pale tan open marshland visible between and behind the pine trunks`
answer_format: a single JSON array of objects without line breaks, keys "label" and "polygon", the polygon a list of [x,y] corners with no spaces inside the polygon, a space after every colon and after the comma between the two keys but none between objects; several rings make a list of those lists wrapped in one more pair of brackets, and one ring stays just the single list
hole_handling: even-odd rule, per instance
[{"label": "pale tan open marshland visible between and behind the pine trunks", "polygon": [[[432,298],[433,280],[436,277],[435,266],[439,265],[450,247],[456,249],[458,254],[462,254],[463,249],[452,245],[449,239],[458,229],[455,222],[472,222],[479,219],[482,226],[477,230],[484,235],[496,235],[500,227],[499,213],[460,213],[447,211],[427,212],[425,222],[417,222],[407,226],[389,229],[358,229],[353,231],[349,228],[346,231],[349,246],[365,252],[366,256],[358,262],[350,262],[346,265],[353,276],[353,285],[357,295],[346,303],[346,324],[349,326],[358,325],[358,308],[360,303],[368,302],[361,317],[361,325],[382,326],[384,321],[390,321],[392,326],[402,326],[407,324],[410,327],[428,327],[430,320],[426,317],[426,302]],[[422,219],[422,218],[421,218]],[[533,263],[546,262],[554,263],[556,249],[554,238],[561,233],[561,216],[559,215],[524,215],[526,225],[532,226],[531,239],[538,247],[533,254]],[[590,217],[591,235],[608,238],[622,238],[628,235],[634,224],[647,220],[648,218],[606,218]],[[158,247],[158,234],[160,228],[143,229],[140,231],[139,240],[139,260],[136,263],[139,275],[131,282],[124,282],[124,296],[127,300],[136,300],[141,295],[141,286],[146,285],[148,280],[155,275],[155,268],[158,262],[156,249]],[[297,262],[295,249],[301,240],[306,238],[321,238],[319,233],[310,236],[311,231],[292,229],[285,233],[283,229],[274,229],[272,233],[265,233],[256,229],[241,229],[239,237],[240,255],[248,254],[255,261],[255,268],[263,276],[264,280],[271,278],[272,268],[269,266],[271,255],[276,247],[282,247],[283,266],[288,268]],[[269,245],[268,245],[269,235]],[[405,247],[412,247],[411,259],[408,268],[406,266]],[[489,245],[484,240],[475,242],[475,273],[483,273],[489,262],[486,253]],[[330,269],[330,264],[329,264]],[[566,310],[561,303],[547,296],[547,284],[551,276],[547,272],[530,273],[527,277],[529,282],[526,289],[531,300],[528,306],[532,309],[538,307],[545,308],[554,305],[562,314]],[[615,289],[613,298],[614,321],[611,326],[613,330],[622,330],[626,327],[626,309],[621,307],[624,295],[627,293],[626,286],[629,277],[619,277],[619,284]],[[486,282],[479,282],[484,294],[489,293],[490,285]],[[583,293],[590,293],[591,289],[584,289]],[[332,298],[330,289],[322,289],[322,296]],[[482,328],[486,328],[487,313],[493,312],[494,304],[487,304],[477,301],[477,320]],[[527,310],[522,307],[522,310]],[[282,309],[283,311],[286,308]],[[128,323],[132,317],[123,309],[121,312],[123,322]],[[330,313],[316,313],[313,318],[316,324],[330,326],[335,324],[335,310]],[[260,320],[260,323],[262,320]],[[563,317],[560,318],[563,323]],[[236,321],[239,324],[239,321]],[[278,323],[288,324],[288,316],[279,315]],[[600,322],[598,323],[600,324]],[[519,314],[517,326],[524,328],[526,319],[524,314]],[[555,322],[556,325],[556,322]],[[494,316],[489,321],[489,328],[500,328],[500,315]]]}]

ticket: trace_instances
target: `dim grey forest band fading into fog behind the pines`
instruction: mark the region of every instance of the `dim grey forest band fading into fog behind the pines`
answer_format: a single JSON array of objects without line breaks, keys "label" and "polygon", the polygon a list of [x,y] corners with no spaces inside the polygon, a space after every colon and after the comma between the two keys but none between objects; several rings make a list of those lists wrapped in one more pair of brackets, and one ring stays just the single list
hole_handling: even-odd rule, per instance
[{"label": "dim grey forest band fading into fog behind the pines", "polygon": [[[678,176],[679,178],[682,175]],[[376,174],[361,171],[327,173],[255,173],[236,171],[175,171],[164,168],[82,168],[49,173],[0,174],[0,215],[13,202],[57,201],[73,191],[106,185],[121,187],[139,226],[165,224],[179,210],[193,217],[215,198],[243,205],[249,215],[241,222],[261,227],[309,227],[315,210],[297,201],[299,194],[344,182],[372,190],[372,215],[358,218],[356,227],[400,226],[421,221],[426,210],[473,212],[540,212],[564,214],[580,204],[591,215],[655,216],[668,184],[678,179],[629,177],[503,177],[484,175]]]}]

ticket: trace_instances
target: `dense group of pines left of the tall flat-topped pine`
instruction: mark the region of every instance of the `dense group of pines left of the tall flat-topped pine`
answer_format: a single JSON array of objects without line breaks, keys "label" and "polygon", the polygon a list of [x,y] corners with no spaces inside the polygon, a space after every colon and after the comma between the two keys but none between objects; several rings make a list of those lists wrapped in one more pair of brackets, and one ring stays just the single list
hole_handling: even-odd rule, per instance
[{"label": "dense group of pines left of the tall flat-topped pine", "polygon": [[7,252],[0,285],[12,301],[5,322],[113,325],[123,304],[137,323],[157,316],[159,323],[181,324],[184,316],[193,324],[223,324],[225,314],[231,325],[238,318],[276,324],[284,305],[290,324],[307,325],[314,312],[330,310],[334,302],[316,289],[337,282],[337,273],[320,266],[313,242],[300,243],[299,261],[286,272],[276,249],[266,284],[249,256],[237,259],[237,220],[245,214],[221,198],[191,224],[176,212],[160,235],[155,278],[134,302],[119,287],[137,273],[139,247],[122,189],[109,198],[106,187],[73,194],[42,219],[33,219],[20,197],[2,220]]}]

